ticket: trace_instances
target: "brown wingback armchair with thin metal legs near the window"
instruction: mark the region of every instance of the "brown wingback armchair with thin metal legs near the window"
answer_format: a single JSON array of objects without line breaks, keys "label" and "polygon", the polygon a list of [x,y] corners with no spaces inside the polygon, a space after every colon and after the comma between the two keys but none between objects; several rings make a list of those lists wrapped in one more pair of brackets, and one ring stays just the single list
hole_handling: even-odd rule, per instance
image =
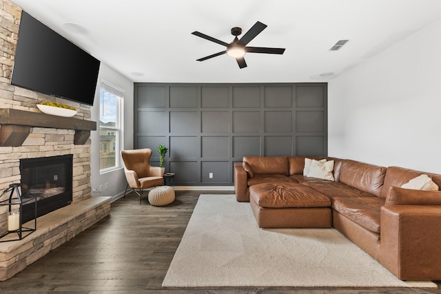
[{"label": "brown wingback armchair with thin metal legs near the window", "polygon": [[143,198],[143,189],[164,185],[163,171],[161,167],[150,166],[152,149],[121,150],[124,161],[125,178],[127,187],[134,189],[139,196],[139,204]]}]

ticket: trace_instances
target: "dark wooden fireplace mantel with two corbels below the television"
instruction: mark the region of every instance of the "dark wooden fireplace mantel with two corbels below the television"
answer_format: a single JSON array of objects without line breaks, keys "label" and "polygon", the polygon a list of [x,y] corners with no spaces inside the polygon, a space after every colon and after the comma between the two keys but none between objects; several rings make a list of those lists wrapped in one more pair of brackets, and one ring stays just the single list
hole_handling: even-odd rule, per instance
[{"label": "dark wooden fireplace mantel with two corbels below the television", "polygon": [[0,108],[0,147],[21,146],[30,134],[31,127],[74,129],[74,144],[82,145],[90,137],[90,131],[96,130],[96,122],[20,109]]}]

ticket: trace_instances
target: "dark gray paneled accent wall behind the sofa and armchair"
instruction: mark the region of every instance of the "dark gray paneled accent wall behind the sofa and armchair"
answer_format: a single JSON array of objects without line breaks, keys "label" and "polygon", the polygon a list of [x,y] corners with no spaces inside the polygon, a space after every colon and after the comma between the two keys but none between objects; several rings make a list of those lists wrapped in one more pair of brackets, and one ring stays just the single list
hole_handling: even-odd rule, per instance
[{"label": "dark gray paneled accent wall behind the sofa and armchair", "polygon": [[[327,155],[327,83],[135,83],[134,146],[175,185],[233,185],[243,156]],[[209,174],[213,177],[210,178]]]}]

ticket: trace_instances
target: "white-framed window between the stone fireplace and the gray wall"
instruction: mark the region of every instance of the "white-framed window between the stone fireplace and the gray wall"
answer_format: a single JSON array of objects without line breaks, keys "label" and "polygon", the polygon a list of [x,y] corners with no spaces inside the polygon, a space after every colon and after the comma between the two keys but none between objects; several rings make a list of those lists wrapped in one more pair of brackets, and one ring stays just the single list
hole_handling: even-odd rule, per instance
[{"label": "white-framed window between the stone fireplace and the gray wall", "polygon": [[123,97],[123,91],[107,83],[101,84],[99,91],[100,171],[108,171],[119,167]]}]

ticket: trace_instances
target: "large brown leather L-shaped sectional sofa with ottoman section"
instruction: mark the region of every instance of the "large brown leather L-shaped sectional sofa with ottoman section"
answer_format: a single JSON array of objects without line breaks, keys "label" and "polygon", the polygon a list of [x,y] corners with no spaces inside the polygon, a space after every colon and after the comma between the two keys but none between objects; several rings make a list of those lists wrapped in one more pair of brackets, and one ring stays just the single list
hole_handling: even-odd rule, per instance
[{"label": "large brown leather L-shaped sectional sofa with ottoman section", "polygon": [[441,175],[325,159],[334,181],[303,176],[305,156],[245,156],[236,199],[259,227],[334,227],[400,280],[441,280],[441,191],[400,188],[422,174],[441,187]]}]

